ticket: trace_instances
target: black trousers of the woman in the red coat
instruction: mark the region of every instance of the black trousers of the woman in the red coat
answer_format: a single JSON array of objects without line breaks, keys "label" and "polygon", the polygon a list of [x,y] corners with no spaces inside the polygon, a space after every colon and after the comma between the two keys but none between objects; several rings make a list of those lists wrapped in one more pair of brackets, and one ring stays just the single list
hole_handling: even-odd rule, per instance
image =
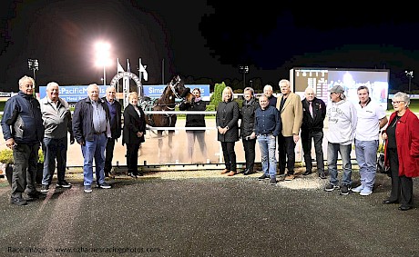
[{"label": "black trousers of the woman in the red coat", "polygon": [[397,149],[387,149],[390,162],[390,171],[392,178],[392,193],[390,193],[390,201],[397,201],[402,206],[414,205],[414,182],[412,178],[399,176],[399,159]]}]

